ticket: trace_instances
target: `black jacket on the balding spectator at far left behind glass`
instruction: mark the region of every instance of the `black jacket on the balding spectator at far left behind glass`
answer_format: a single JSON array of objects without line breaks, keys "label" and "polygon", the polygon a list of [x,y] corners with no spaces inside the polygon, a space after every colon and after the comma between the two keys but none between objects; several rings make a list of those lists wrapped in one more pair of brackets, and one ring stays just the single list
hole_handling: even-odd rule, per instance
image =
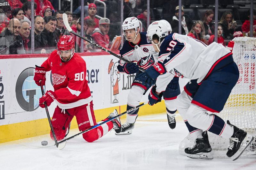
[{"label": "black jacket on the balding spectator at far left behind glass", "polygon": [[20,35],[14,36],[9,29],[0,34],[0,54],[25,54]]}]

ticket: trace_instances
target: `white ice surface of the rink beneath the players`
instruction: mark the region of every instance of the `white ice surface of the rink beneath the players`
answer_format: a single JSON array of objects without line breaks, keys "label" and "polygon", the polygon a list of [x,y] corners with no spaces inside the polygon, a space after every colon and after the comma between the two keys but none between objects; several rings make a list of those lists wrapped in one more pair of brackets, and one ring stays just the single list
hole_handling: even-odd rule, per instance
[{"label": "white ice surface of the rink beneath the players", "polygon": [[[255,170],[256,155],[236,161],[190,159],[179,154],[180,141],[188,130],[179,115],[175,129],[170,129],[166,114],[139,116],[130,135],[116,136],[114,130],[93,143],[82,135],[69,140],[58,150],[49,135],[0,144],[1,170]],[[125,120],[122,120],[124,123]],[[68,137],[78,133],[70,130]],[[48,145],[42,146],[41,141]]]}]

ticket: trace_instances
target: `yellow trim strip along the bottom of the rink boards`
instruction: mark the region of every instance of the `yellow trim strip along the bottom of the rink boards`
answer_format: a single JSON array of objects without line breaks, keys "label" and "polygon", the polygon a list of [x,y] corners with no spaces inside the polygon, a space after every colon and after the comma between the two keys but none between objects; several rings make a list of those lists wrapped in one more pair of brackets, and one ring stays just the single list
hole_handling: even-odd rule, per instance
[{"label": "yellow trim strip along the bottom of the rink boards", "polygon": [[[105,119],[111,112],[113,112],[114,109],[117,109],[118,113],[120,114],[126,111],[126,105],[94,110],[96,121],[99,122]],[[165,112],[164,101],[157,103],[154,106],[145,105],[140,107],[139,115],[149,115],[161,112]],[[126,114],[121,116],[121,118],[126,118]],[[78,128],[76,118],[74,118],[71,122],[71,129],[74,128]],[[0,126],[0,143],[49,133],[50,126],[47,118],[2,125]]]}]

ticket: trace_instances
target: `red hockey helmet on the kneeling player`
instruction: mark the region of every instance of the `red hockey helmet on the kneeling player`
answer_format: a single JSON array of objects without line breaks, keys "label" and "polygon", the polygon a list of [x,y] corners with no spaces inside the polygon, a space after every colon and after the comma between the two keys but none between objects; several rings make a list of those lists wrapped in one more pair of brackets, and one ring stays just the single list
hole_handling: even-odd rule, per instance
[{"label": "red hockey helmet on the kneeling player", "polygon": [[[57,54],[60,56],[60,51],[71,50],[71,57],[75,53],[75,40],[71,35],[62,35],[57,44]],[[70,58],[71,58],[70,57]]]}]

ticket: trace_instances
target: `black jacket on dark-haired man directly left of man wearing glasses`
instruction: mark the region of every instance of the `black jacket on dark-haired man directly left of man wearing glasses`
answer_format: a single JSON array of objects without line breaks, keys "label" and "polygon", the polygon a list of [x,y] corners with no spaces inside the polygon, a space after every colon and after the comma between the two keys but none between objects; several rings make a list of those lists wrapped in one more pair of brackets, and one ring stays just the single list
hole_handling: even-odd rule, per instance
[{"label": "black jacket on dark-haired man directly left of man wearing glasses", "polygon": [[51,53],[56,49],[59,37],[55,34],[55,32],[51,33],[47,31],[45,28],[41,34],[43,34],[46,37],[46,40],[48,42],[48,49],[46,49],[47,52]]}]

